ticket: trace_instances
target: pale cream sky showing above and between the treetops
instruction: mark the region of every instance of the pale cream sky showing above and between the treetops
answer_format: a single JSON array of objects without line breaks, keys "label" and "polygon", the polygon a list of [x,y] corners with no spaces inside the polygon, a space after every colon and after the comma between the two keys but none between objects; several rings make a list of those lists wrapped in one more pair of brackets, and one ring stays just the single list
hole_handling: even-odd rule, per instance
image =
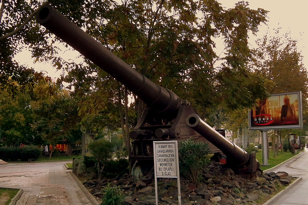
[{"label": "pale cream sky showing above and between the treetops", "polygon": [[[290,30],[291,37],[298,39],[298,47],[304,57],[303,61],[308,67],[308,0],[247,0],[249,2],[249,8],[257,10],[262,8],[270,11],[268,13],[267,25],[259,27],[257,36],[250,35],[249,43],[251,46],[255,46],[254,41],[257,38],[263,37],[266,30],[273,30],[274,28],[282,27],[281,34]],[[225,7],[225,9],[234,7],[235,0],[218,0]],[[246,1],[245,1],[246,2]],[[223,51],[223,45],[217,45],[217,54]],[[73,61],[80,62],[81,59],[76,59],[78,52],[67,50],[65,48],[62,53],[65,60],[72,59]],[[23,51],[16,55],[14,58],[17,62],[33,67],[37,71],[43,71],[50,77],[59,77],[61,72],[56,71],[48,63],[34,64],[33,59],[29,51]]]}]

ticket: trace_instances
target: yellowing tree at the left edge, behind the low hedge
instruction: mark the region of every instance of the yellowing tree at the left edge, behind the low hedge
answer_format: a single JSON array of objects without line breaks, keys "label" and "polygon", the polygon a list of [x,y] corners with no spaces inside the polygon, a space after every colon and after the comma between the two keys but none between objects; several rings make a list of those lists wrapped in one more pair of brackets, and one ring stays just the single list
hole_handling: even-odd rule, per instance
[{"label": "yellowing tree at the left edge, behind the low hedge", "polygon": [[30,129],[34,119],[29,88],[22,88],[17,82],[10,85],[14,87],[3,85],[0,91],[0,138],[7,145],[41,144],[41,137]]}]

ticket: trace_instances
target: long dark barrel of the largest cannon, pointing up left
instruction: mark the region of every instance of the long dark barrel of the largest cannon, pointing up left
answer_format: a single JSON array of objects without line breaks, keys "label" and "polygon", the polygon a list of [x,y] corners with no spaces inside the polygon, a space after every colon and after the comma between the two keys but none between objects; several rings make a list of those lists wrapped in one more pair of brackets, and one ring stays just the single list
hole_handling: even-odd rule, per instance
[{"label": "long dark barrel of the largest cannon, pointing up left", "polygon": [[180,105],[181,99],[176,94],[138,73],[50,5],[42,6],[36,18],[47,30],[120,81],[153,111],[174,112]]}]

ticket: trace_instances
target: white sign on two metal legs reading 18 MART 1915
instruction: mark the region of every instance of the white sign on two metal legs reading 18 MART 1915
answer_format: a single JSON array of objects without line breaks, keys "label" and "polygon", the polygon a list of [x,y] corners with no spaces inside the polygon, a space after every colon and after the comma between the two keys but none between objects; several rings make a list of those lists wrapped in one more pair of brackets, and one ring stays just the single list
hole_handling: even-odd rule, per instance
[{"label": "white sign on two metal legs reading 18 MART 1915", "polygon": [[179,205],[181,205],[179,153],[177,141],[153,141],[155,199],[158,205],[157,177],[177,178]]}]

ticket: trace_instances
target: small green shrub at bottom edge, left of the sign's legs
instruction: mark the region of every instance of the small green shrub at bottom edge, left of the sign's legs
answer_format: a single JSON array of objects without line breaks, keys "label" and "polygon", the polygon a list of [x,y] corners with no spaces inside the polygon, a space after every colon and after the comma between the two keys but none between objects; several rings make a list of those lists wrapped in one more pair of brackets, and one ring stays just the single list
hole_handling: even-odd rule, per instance
[{"label": "small green shrub at bottom edge, left of the sign's legs", "polygon": [[108,183],[104,189],[101,205],[122,205],[124,202],[123,190],[120,187],[111,187]]}]

